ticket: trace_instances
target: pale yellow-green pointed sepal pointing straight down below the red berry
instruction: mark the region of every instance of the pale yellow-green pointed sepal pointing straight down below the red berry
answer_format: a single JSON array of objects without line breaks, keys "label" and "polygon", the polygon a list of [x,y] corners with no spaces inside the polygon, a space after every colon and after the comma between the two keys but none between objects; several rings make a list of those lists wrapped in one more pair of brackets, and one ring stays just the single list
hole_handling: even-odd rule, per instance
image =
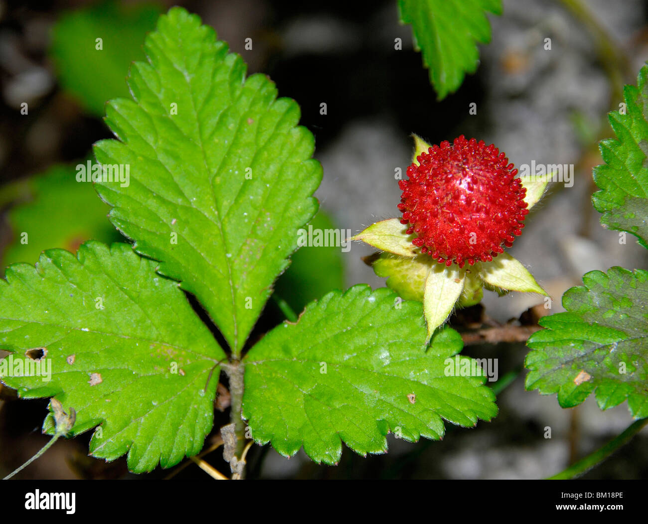
[{"label": "pale yellow-green pointed sepal pointing straight down below the red berry", "polygon": [[446,268],[444,264],[432,264],[425,279],[423,313],[428,325],[428,338],[443,325],[454,310],[465,283],[466,269],[456,264]]}]

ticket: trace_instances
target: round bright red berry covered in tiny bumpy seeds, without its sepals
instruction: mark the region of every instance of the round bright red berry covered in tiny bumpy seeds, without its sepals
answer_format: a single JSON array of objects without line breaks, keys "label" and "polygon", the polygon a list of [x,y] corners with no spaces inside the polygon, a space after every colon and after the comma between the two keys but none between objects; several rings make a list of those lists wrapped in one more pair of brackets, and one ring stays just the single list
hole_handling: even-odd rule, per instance
[{"label": "round bright red berry covered in tiny bumpy seeds, without its sepals", "polygon": [[401,180],[399,209],[412,241],[437,262],[463,268],[511,247],[529,212],[518,170],[504,153],[463,135],[417,157]]}]

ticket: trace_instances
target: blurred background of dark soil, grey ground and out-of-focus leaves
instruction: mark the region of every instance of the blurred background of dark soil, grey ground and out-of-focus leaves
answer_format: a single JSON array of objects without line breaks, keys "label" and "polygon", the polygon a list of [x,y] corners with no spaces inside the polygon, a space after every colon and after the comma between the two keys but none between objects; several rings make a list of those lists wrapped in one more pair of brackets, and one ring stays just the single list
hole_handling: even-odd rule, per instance
[{"label": "blurred background of dark soil, grey ground and out-of-focus leaves", "polygon": [[[128,96],[125,78],[160,12],[182,5],[216,29],[249,73],[274,80],[279,95],[302,109],[301,123],[316,137],[324,178],[316,196],[316,227],[357,233],[399,214],[394,174],[410,164],[417,133],[430,143],[459,134],[494,143],[516,166],[572,164],[572,187],[551,185],[526,220],[512,254],[554,297],[592,269],[646,268],[646,251],[628,236],[603,229],[590,196],[596,142],[611,137],[606,113],[622,102],[622,85],[636,82],[648,60],[648,6],[643,0],[503,0],[503,15],[489,16],[492,42],[481,47],[476,74],[437,102],[412,47],[411,28],[400,25],[395,0],[327,0],[297,6],[270,0],[90,2],[0,0],[0,251],[3,268],[33,264],[43,249],[75,250],[89,238],[120,240],[108,207],[91,185],[75,183],[74,166],[90,158],[93,142],[110,137],[104,102]],[[100,60],[80,45],[103,39]],[[252,49],[246,49],[251,38]],[[402,39],[402,50],[395,39]],[[545,39],[551,38],[551,49]],[[322,103],[327,104],[325,115]],[[470,104],[476,114],[470,114]],[[27,106],[25,106],[27,104]],[[26,109],[26,110],[25,110]],[[26,114],[25,114],[26,113]],[[474,111],[473,111],[474,113]],[[29,234],[21,244],[21,233]],[[123,239],[122,239],[123,240]],[[367,282],[384,286],[362,262],[371,254],[354,244],[303,248],[277,283],[295,310],[332,288]],[[312,268],[318,270],[312,274]],[[454,324],[533,324],[548,313],[534,295],[485,293],[483,308],[460,313]],[[259,330],[281,321],[270,302]],[[499,373],[515,380],[498,396],[500,415],[475,429],[448,427],[443,442],[390,439],[389,454],[362,459],[343,452],[337,467],[317,466],[303,453],[286,460],[268,446],[253,446],[253,478],[534,479],[564,469],[631,424],[627,404],[599,411],[594,398],[561,409],[555,396],[524,391],[522,343],[470,345],[465,353],[498,358]],[[0,357],[4,354],[0,352]],[[518,374],[516,374],[518,373]],[[0,476],[47,442],[41,424],[47,400],[16,400],[0,386]],[[227,423],[216,411],[215,427]],[[551,439],[546,439],[546,427]],[[591,479],[648,477],[648,428],[586,474]],[[207,439],[206,447],[215,437]],[[59,441],[21,478],[208,479],[195,464],[131,475],[126,461],[87,457],[89,435]],[[205,460],[227,470],[220,450]]]}]

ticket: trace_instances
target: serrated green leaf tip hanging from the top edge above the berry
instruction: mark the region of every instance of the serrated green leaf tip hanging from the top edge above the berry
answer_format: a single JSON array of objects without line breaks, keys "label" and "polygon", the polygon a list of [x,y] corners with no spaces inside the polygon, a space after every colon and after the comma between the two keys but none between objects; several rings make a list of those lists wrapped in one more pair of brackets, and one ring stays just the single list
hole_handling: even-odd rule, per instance
[{"label": "serrated green leaf tip hanging from the top edge above the berry", "polygon": [[502,0],[399,0],[399,10],[400,20],[412,25],[441,100],[459,89],[465,73],[476,71],[476,43],[491,41],[485,12],[502,14]]}]

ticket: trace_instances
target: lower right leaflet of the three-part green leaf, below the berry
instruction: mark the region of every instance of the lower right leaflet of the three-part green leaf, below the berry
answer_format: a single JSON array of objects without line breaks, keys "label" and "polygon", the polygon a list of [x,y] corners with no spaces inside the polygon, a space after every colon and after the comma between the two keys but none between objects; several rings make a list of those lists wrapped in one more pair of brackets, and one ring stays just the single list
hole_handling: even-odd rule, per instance
[{"label": "lower right leaflet of the three-part green leaf, below the berry", "polygon": [[303,446],[314,461],[335,464],[342,442],[360,455],[384,453],[390,431],[437,440],[443,420],[490,420],[497,407],[483,376],[449,376],[461,337],[444,330],[425,348],[421,313],[418,302],[360,285],[277,326],[244,359],[253,439],[286,457]]}]

